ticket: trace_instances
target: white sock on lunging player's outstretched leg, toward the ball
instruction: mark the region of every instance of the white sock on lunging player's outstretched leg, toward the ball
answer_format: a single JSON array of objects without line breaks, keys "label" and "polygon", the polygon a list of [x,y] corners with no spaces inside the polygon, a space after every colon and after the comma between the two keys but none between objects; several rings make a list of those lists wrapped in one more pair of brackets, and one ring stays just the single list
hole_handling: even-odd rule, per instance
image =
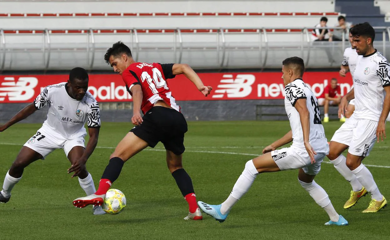
[{"label": "white sock on lunging player's outstretched leg, toward the ball", "polygon": [[237,179],[236,184],[234,184],[230,196],[222,203],[222,214],[227,214],[233,205],[249,190],[250,186],[252,186],[254,180],[256,179],[257,174],[259,174],[259,172],[257,172],[252,159],[247,161],[244,171]]}]

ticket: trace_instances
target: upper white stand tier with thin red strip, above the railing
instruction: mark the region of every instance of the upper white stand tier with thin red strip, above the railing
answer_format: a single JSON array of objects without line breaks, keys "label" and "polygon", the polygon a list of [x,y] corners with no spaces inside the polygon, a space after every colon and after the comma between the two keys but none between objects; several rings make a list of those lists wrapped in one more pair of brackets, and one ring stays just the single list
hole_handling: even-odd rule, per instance
[{"label": "upper white stand tier with thin red strip, above the railing", "polygon": [[328,26],[337,12],[89,12],[0,13],[0,26],[12,28],[258,28],[313,27],[322,16]]}]

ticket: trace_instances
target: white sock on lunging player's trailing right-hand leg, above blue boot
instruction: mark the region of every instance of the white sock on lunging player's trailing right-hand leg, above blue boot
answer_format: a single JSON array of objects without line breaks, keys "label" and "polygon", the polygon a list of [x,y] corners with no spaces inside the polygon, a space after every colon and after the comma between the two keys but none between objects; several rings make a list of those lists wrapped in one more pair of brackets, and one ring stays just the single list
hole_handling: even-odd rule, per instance
[{"label": "white sock on lunging player's trailing right-hand leg, above blue boot", "polygon": [[298,179],[298,182],[310,194],[314,201],[316,201],[320,207],[324,208],[331,221],[339,221],[340,215],[336,212],[335,208],[330,202],[328,194],[321,186],[319,186],[314,180],[310,183],[307,183]]}]

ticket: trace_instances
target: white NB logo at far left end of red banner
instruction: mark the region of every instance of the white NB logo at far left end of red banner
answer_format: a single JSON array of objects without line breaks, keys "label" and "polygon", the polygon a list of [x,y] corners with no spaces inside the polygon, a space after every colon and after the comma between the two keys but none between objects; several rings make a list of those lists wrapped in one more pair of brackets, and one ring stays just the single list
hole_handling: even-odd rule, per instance
[{"label": "white NB logo at far left end of red banner", "polygon": [[[4,77],[0,87],[0,102],[27,101],[34,97],[34,88],[38,84],[36,77]],[[6,100],[6,97],[8,99]]]}]

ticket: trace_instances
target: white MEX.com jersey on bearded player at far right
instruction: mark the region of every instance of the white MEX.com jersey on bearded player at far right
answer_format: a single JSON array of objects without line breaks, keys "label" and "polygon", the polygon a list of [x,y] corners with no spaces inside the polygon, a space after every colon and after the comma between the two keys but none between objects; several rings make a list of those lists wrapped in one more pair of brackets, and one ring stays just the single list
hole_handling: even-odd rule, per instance
[{"label": "white MEX.com jersey on bearded player at far right", "polygon": [[369,56],[358,56],[353,74],[356,119],[379,121],[383,107],[383,87],[390,86],[390,65],[375,51]]}]

